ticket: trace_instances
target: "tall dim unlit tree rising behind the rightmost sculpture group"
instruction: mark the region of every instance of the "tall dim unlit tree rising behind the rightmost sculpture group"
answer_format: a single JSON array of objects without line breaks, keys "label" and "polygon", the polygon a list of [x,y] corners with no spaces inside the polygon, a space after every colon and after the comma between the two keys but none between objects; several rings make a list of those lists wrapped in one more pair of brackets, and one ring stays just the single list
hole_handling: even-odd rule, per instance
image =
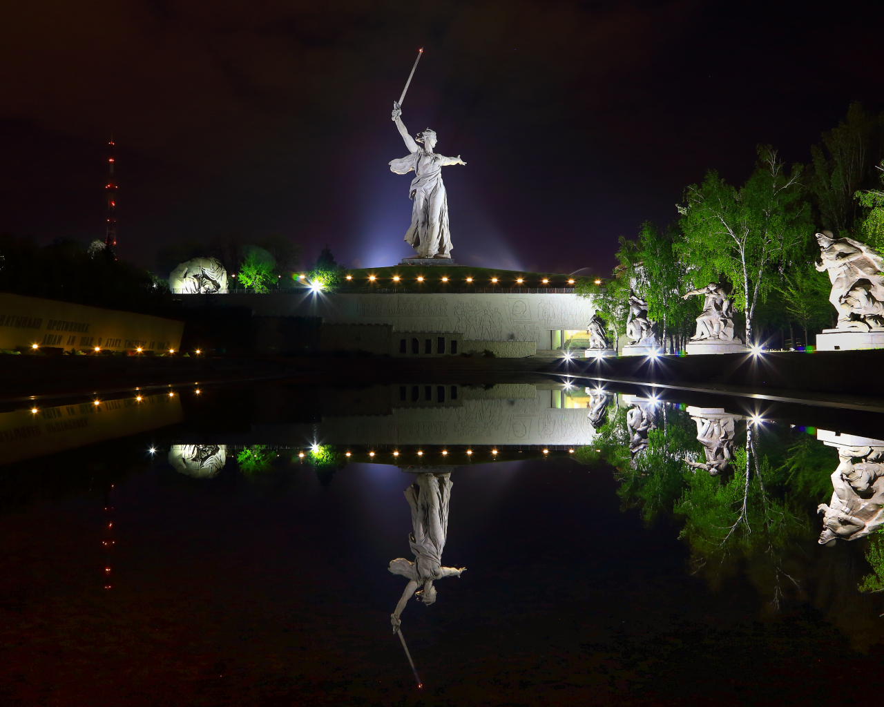
[{"label": "tall dim unlit tree rising behind the rightmost sculpture group", "polygon": [[869,184],[877,162],[880,120],[851,103],[847,119],[822,134],[813,145],[810,187],[823,225],[836,235],[849,235],[857,218],[857,190]]}]

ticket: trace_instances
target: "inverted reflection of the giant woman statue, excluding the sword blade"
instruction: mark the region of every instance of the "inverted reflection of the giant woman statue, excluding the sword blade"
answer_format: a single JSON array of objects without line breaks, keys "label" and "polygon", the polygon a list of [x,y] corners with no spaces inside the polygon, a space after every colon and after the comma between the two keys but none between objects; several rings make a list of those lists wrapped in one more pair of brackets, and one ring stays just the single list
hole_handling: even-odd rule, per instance
[{"label": "inverted reflection of the giant woman statue, excluding the sword blade", "polygon": [[400,615],[415,589],[423,604],[429,606],[436,601],[436,588],[433,581],[443,577],[460,577],[466,567],[443,567],[442,550],[448,534],[448,503],[451,500],[451,474],[418,474],[415,483],[405,490],[408,506],[411,506],[412,533],[408,544],[415,555],[415,561],[396,558],[390,562],[390,572],[401,574],[408,579],[405,591],[396,611],[390,616],[392,632],[400,626]]}]

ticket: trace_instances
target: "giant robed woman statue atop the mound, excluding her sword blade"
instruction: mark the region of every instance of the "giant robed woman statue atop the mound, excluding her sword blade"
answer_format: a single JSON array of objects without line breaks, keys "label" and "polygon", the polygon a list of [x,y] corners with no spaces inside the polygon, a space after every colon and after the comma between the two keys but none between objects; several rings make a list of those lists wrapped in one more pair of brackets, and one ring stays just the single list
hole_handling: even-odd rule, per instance
[{"label": "giant robed woman statue atop the mound, excluding her sword blade", "polygon": [[[408,198],[414,201],[411,209],[411,225],[405,241],[415,248],[420,258],[450,258],[451,231],[448,226],[448,198],[442,183],[442,168],[447,164],[466,164],[461,156],[446,157],[433,152],[436,133],[427,128],[415,138],[408,134],[402,123],[402,110],[393,104],[392,119],[399,128],[402,140],[411,154],[392,160],[390,170],[397,174],[415,171],[415,179],[408,187]],[[417,143],[421,142],[422,145]]]}]

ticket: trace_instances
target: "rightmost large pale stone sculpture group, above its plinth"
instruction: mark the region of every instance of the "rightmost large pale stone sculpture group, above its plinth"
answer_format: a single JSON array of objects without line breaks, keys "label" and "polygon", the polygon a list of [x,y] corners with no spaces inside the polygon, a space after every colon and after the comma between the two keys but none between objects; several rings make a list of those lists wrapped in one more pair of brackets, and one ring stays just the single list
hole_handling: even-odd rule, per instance
[{"label": "rightmost large pale stone sculpture group, above its plinth", "polygon": [[816,269],[828,272],[832,283],[829,301],[838,310],[837,328],[846,331],[884,331],[884,257],[852,238],[816,234],[819,261]]}]

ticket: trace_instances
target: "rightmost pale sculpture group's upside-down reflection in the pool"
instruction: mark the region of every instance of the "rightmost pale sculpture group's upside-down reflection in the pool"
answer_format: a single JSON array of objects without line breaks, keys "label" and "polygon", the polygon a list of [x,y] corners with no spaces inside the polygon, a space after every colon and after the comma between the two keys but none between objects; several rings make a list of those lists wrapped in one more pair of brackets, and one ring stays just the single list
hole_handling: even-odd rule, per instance
[{"label": "rightmost pale sculpture group's upside-down reflection in the pool", "polygon": [[[857,540],[884,526],[884,446],[827,445],[837,446],[840,463],[832,474],[832,500],[817,508],[824,513],[819,544]],[[863,461],[855,464],[857,457]]]}]

